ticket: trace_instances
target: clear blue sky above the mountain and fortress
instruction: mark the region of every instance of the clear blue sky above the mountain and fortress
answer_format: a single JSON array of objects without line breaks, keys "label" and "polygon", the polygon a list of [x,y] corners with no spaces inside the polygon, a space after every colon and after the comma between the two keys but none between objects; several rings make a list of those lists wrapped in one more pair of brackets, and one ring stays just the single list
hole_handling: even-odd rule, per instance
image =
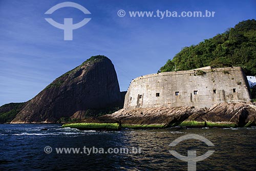
[{"label": "clear blue sky above the mountain and fortress", "polygon": [[[224,32],[256,16],[256,1],[70,1],[87,8],[83,14],[67,7],[45,14],[66,1],[0,0],[0,105],[33,98],[55,78],[94,55],[115,65],[121,91],[141,75],[156,73],[183,47]],[[126,11],[119,17],[117,11]],[[129,11],[215,11],[215,17],[130,17]],[[90,22],[63,40],[63,30],[46,17],[73,23]]]}]

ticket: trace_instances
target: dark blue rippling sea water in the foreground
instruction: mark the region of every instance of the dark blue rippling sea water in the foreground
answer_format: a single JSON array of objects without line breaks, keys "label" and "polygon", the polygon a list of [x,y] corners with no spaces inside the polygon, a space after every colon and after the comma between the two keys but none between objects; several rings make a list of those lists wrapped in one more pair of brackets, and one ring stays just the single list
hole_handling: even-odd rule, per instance
[{"label": "dark blue rippling sea water in the foreground", "polygon": [[[203,136],[214,146],[194,139],[168,146],[188,134]],[[136,151],[89,154],[83,153],[84,147]],[[56,148],[80,151],[59,154]],[[174,157],[170,150],[183,156],[189,150],[197,151],[197,156],[214,150],[211,156],[196,163],[197,170],[256,170],[256,127],[106,132],[63,129],[60,124],[0,124],[0,170],[187,170],[187,162]]]}]

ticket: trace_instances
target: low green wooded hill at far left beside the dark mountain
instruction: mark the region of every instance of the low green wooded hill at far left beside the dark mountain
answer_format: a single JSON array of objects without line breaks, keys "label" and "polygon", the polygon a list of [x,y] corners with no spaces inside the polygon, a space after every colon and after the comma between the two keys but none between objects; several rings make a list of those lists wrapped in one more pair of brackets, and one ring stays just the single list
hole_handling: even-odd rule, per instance
[{"label": "low green wooded hill at far left beside the dark mountain", "polygon": [[21,111],[26,102],[23,103],[8,103],[0,106],[0,123],[11,122],[12,119]]}]

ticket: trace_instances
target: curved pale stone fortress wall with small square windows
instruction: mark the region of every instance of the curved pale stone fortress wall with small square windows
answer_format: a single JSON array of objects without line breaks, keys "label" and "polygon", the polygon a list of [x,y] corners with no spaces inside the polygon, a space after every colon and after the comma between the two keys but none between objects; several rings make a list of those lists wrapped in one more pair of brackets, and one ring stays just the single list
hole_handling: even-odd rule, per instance
[{"label": "curved pale stone fortress wall with small square windows", "polygon": [[206,67],[133,79],[125,95],[124,109],[161,106],[210,108],[216,103],[250,100],[248,81],[241,67]]}]

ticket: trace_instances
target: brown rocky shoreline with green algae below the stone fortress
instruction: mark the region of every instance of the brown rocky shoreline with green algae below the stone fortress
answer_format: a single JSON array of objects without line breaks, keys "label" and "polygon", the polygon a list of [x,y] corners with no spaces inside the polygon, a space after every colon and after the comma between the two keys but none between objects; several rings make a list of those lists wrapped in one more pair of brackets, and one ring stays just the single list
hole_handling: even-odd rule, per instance
[{"label": "brown rocky shoreline with green algae below the stone fortress", "polygon": [[[78,116],[80,117],[80,116]],[[121,109],[110,115],[91,117],[62,127],[80,130],[147,129],[172,126],[249,127],[256,125],[255,102],[224,102],[209,109],[191,107]]]}]

